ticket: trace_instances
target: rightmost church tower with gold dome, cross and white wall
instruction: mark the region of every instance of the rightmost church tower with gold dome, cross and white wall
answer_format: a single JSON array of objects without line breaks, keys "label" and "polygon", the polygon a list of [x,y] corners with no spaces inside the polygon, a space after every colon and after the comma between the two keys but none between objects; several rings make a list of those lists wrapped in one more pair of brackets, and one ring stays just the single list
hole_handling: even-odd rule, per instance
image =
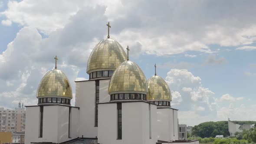
[{"label": "rightmost church tower with gold dome, cross and white wall", "polygon": [[178,140],[177,109],[171,108],[171,91],[163,78],[155,73],[148,79],[148,102],[157,105],[157,135],[159,141]]}]

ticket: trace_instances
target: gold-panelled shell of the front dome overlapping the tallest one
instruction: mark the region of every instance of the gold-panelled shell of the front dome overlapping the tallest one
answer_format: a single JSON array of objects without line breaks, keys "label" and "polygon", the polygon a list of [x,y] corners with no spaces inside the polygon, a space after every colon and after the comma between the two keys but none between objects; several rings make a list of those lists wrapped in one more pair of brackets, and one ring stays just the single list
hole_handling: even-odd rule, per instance
[{"label": "gold-panelled shell of the front dome overlapping the tallest one", "polygon": [[113,73],[108,94],[114,93],[148,93],[147,79],[141,68],[131,61],[121,63]]}]

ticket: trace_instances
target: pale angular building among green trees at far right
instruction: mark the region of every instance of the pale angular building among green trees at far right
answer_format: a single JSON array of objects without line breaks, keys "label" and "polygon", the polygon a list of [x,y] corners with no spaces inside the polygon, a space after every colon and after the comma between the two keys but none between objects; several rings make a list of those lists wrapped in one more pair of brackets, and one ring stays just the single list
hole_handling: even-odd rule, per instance
[{"label": "pale angular building among green trees at far right", "polygon": [[243,132],[243,130],[249,131],[250,128],[253,128],[254,124],[236,124],[230,121],[228,118],[228,130],[230,132],[230,137],[234,137],[236,132]]}]

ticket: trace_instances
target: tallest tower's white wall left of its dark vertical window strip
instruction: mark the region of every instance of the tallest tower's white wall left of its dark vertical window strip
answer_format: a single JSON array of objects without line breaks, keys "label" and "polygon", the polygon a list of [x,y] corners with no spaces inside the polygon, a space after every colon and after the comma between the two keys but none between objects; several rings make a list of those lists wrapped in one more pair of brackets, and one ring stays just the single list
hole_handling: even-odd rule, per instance
[{"label": "tallest tower's white wall left of its dark vertical window strip", "polygon": [[96,137],[95,81],[75,83],[75,106],[79,107],[79,137]]}]

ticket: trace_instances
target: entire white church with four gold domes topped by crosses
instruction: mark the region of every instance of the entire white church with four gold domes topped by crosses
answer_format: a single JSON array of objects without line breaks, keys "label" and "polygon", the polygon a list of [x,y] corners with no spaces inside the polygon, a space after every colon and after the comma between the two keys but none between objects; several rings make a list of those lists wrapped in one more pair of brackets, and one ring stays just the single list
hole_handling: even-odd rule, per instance
[{"label": "entire white church with four gold domes topped by crosses", "polygon": [[[89,80],[69,79],[57,69],[39,83],[37,105],[26,106],[25,144],[161,144],[179,142],[177,109],[171,91],[156,73],[146,79],[123,47],[109,36],[92,50]],[[198,141],[183,141],[194,142]]]}]

